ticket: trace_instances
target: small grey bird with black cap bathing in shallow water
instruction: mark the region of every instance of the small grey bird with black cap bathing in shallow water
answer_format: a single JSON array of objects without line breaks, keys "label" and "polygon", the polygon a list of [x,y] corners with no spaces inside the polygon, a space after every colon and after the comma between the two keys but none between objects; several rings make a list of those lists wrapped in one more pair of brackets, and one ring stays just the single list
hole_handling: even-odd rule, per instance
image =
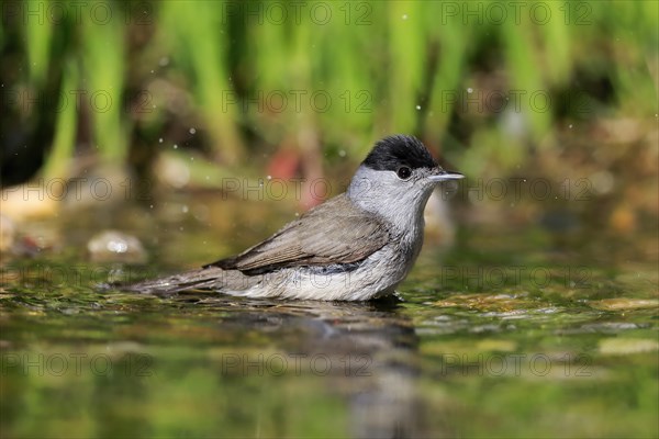
[{"label": "small grey bird with black cap bathing in shallow water", "polygon": [[348,190],[242,254],[131,290],[211,290],[246,297],[366,301],[393,293],[423,244],[423,211],[447,172],[415,137],[376,143]]}]

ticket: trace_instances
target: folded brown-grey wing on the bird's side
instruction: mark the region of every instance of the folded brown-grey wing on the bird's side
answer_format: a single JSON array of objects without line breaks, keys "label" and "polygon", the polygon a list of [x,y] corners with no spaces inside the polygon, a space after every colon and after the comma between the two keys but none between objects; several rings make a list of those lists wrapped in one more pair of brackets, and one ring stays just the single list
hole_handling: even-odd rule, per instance
[{"label": "folded brown-grey wing on the bird's side", "polygon": [[351,263],[366,259],[388,241],[386,225],[342,194],[241,255],[205,267],[263,273],[284,267]]}]

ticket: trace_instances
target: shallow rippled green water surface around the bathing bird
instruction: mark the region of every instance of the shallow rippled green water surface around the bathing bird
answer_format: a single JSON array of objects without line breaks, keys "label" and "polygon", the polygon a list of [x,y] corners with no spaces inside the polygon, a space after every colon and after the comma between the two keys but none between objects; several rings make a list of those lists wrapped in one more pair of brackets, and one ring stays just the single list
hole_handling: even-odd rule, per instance
[{"label": "shallow rippled green water surface around the bathing bird", "polygon": [[2,437],[659,434],[656,255],[639,250],[652,236],[617,259],[548,249],[534,226],[476,227],[447,252],[426,246],[402,301],[382,303],[97,286],[241,246],[174,228],[134,227],[159,243],[148,267],[66,244],[3,262]]}]

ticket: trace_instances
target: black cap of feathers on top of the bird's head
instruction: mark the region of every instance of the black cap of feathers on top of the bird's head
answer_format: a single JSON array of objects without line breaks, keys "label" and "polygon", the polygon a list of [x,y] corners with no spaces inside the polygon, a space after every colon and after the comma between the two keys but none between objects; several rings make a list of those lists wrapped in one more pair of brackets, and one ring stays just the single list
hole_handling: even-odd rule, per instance
[{"label": "black cap of feathers on top of the bird's head", "polygon": [[376,143],[361,165],[377,171],[396,171],[401,166],[435,168],[437,162],[420,139],[399,134]]}]

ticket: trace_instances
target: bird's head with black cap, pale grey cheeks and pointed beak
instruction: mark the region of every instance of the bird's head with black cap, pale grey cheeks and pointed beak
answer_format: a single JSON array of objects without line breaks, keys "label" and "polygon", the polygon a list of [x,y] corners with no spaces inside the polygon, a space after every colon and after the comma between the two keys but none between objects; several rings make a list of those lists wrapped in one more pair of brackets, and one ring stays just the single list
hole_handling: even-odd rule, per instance
[{"label": "bird's head with black cap, pale grey cheeks and pointed beak", "polygon": [[407,228],[423,221],[423,211],[442,181],[462,178],[437,165],[415,137],[395,135],[378,142],[348,187],[348,198],[394,226]]}]

